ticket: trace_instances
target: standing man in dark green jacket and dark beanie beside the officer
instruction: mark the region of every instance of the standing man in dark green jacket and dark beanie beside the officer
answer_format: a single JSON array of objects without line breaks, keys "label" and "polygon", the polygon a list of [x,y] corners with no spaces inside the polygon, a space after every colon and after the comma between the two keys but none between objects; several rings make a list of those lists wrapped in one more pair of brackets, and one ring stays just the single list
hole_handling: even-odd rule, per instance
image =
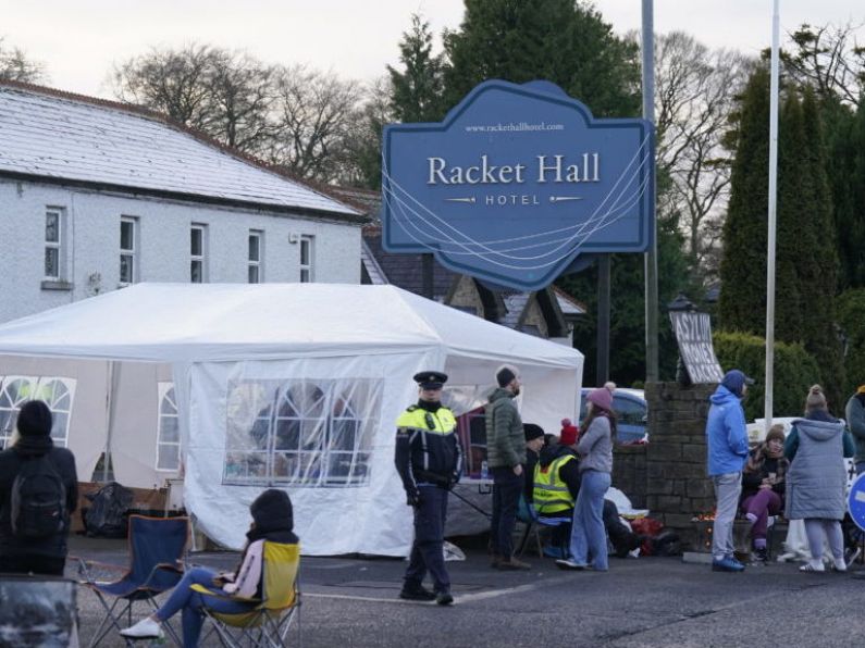
[{"label": "standing man in dark green jacket and dark beanie beside the officer", "polygon": [[526,437],[522,419],[514,399],[520,392],[519,371],[504,365],[496,371],[498,388],[484,408],[486,423],[486,462],[493,473],[493,516],[490,521],[492,566],[499,570],[526,570],[531,565],[514,557],[514,527],[523,489],[522,465],[526,463]]}]

